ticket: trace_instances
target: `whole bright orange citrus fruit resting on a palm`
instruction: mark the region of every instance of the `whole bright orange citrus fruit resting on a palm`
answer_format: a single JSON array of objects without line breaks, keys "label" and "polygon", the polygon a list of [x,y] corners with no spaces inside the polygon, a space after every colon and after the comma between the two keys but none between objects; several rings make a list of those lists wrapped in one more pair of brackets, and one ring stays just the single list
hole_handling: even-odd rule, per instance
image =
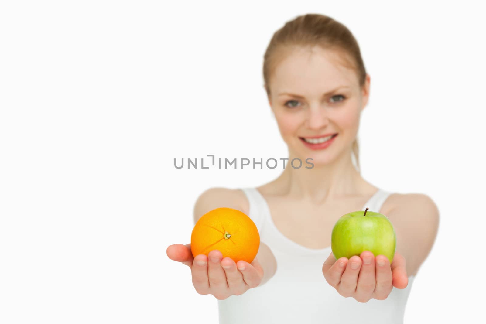
[{"label": "whole bright orange citrus fruit resting on a palm", "polygon": [[245,213],[227,207],[208,211],[196,222],[191,234],[192,256],[219,250],[223,257],[251,263],[260,247],[257,225]]}]

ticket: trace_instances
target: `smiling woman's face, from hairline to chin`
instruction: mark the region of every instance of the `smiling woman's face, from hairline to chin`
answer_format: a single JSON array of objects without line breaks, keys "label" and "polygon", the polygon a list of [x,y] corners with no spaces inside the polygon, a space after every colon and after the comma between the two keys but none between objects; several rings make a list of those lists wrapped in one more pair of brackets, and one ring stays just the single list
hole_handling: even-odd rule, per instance
[{"label": "smiling woman's face, from hairline to chin", "polygon": [[[358,133],[370,78],[366,76],[361,88],[356,71],[340,64],[339,55],[320,47],[299,48],[271,76],[268,99],[280,135],[291,156],[303,163],[311,157],[314,165],[325,165],[350,153]],[[326,144],[315,143],[328,134],[337,136]]]}]

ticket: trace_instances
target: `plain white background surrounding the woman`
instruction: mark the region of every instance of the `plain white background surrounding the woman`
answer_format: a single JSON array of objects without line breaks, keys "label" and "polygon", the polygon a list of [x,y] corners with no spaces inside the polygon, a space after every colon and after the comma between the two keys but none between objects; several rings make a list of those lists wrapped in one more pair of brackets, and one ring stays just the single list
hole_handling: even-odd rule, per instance
[{"label": "plain white background surrounding the woman", "polygon": [[480,321],[484,10],[365,2],[2,1],[0,323],[217,323],[166,248],[190,242],[202,191],[281,170],[174,157],[287,156],[262,57],[306,13],[344,23],[371,75],[364,178],[440,210],[405,323]]}]

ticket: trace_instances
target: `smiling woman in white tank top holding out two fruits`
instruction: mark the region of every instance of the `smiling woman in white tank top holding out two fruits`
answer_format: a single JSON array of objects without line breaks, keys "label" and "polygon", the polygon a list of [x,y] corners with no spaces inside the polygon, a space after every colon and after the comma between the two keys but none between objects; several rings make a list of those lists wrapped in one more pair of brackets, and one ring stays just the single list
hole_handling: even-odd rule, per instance
[{"label": "smiling woman in white tank top holding out two fruits", "polygon": [[[257,224],[261,243],[251,264],[217,250],[209,260],[193,258],[190,244],[173,244],[167,255],[191,268],[198,293],[218,299],[220,323],[402,323],[439,215],[428,196],[387,192],[360,174],[356,137],[370,77],[355,38],[330,17],[296,17],[273,35],[263,78],[288,161],[312,158],[313,167],[287,163],[259,188],[210,188],[199,196],[195,222],[226,206]],[[334,223],[366,207],[394,225],[392,264],[370,251],[332,255]]]}]

